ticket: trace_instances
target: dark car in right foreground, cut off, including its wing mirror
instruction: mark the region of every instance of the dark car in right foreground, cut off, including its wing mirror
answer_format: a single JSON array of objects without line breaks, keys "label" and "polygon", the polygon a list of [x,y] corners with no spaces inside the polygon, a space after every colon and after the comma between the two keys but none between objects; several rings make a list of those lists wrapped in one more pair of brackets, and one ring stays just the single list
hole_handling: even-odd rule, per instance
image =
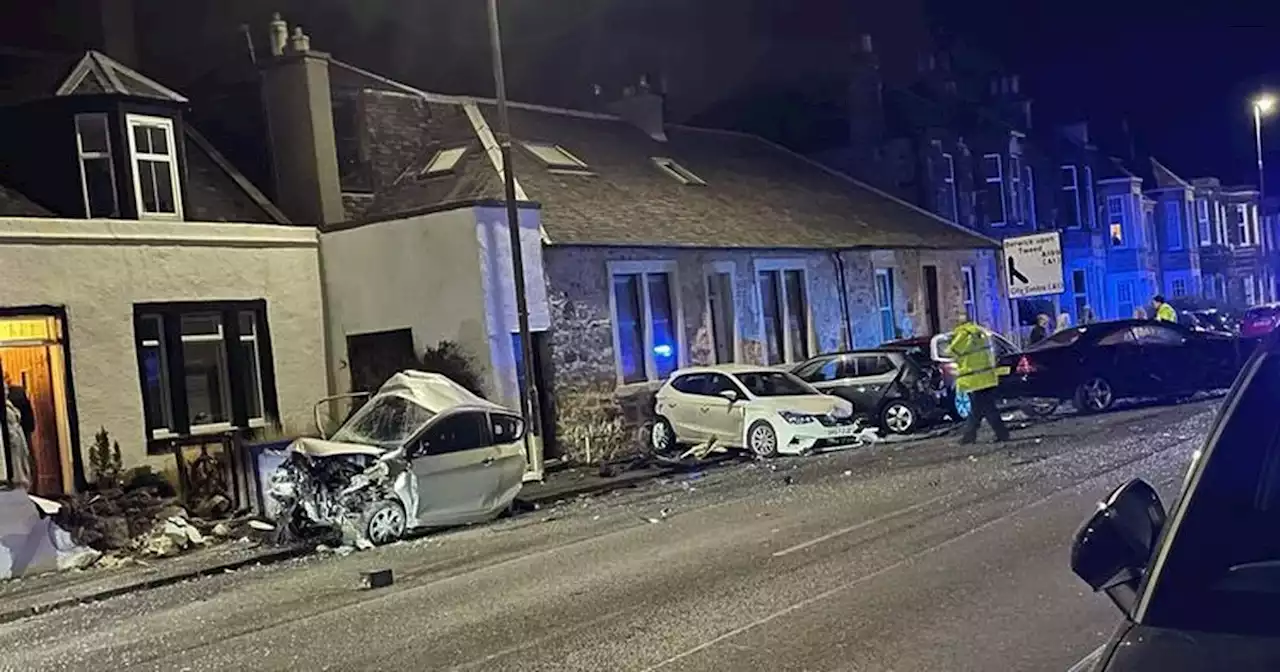
[{"label": "dark car in right foreground, cut off, including its wing mirror", "polygon": [[1280,669],[1280,342],[1244,365],[1170,509],[1143,480],[1075,534],[1071,571],[1123,621],[1071,669]]}]

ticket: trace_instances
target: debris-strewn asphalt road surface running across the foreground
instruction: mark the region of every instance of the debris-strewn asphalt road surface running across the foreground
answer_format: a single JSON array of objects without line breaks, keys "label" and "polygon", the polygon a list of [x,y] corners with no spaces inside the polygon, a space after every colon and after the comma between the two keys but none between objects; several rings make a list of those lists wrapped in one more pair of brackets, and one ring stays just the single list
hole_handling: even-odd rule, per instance
[{"label": "debris-strewn asphalt road surface running across the foreground", "polygon": [[[0,626],[0,669],[1061,671],[1119,613],[1068,568],[1180,485],[1216,402],[776,460]],[[358,573],[394,585],[361,590]]]}]

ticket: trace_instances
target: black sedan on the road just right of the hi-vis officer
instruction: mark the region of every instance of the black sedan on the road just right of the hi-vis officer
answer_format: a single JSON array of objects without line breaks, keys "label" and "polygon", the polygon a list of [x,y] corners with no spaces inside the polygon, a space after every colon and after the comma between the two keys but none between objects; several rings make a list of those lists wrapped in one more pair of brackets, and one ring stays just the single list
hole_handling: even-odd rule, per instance
[{"label": "black sedan on the road just right of the hi-vis officer", "polygon": [[1097,323],[1001,358],[1012,372],[1000,389],[1006,398],[1056,398],[1096,413],[1121,398],[1178,399],[1224,389],[1247,355],[1229,334],[1151,320]]}]

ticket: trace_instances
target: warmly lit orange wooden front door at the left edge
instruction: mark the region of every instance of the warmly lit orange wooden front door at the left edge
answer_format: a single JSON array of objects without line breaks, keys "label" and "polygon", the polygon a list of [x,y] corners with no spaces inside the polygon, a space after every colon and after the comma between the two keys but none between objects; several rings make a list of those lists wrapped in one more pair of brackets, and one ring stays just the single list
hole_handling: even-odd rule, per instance
[{"label": "warmly lit orange wooden front door at the left edge", "polygon": [[0,367],[9,384],[27,390],[31,410],[36,416],[36,431],[31,438],[35,458],[32,492],[54,494],[63,492],[61,452],[58,445],[58,406],[54,402],[54,375],[50,369],[49,346],[0,347]]}]

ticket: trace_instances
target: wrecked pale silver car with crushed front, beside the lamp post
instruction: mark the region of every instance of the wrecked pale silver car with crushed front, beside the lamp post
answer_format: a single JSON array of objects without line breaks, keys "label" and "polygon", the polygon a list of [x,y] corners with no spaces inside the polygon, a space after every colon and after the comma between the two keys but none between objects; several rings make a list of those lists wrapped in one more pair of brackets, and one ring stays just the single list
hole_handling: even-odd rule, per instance
[{"label": "wrecked pale silver car with crushed front, beside the lamp post", "polygon": [[332,438],[303,438],[271,475],[276,525],[387,544],[415,527],[484,522],[525,475],[520,413],[449,378],[401,371]]}]

